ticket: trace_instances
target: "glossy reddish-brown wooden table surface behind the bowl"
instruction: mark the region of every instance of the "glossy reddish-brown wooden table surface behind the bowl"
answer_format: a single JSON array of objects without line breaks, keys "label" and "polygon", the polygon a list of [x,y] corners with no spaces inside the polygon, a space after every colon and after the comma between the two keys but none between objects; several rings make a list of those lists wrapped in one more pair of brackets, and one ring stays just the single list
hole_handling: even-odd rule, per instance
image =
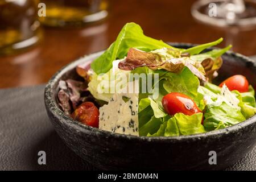
[{"label": "glossy reddish-brown wooden table surface behind the bowl", "polygon": [[105,49],[127,22],[140,24],[144,33],[166,42],[205,43],[220,37],[220,47],[256,55],[256,29],[214,28],[191,16],[192,0],[112,1],[109,18],[84,28],[44,28],[44,39],[19,55],[0,57],[0,88],[47,82],[58,69],[82,55]]}]

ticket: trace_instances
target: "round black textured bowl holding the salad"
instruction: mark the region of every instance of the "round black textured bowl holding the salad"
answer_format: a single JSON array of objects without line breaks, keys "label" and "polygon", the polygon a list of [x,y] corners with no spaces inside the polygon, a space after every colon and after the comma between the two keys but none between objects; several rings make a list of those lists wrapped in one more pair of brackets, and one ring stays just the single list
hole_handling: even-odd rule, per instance
[{"label": "round black textured bowl holding the salad", "polygon": [[[188,48],[191,44],[173,44]],[[45,104],[57,133],[77,155],[98,169],[224,169],[249,152],[256,141],[256,115],[237,125],[205,134],[181,137],[135,137],[110,133],[82,125],[61,111],[56,102],[59,80],[77,78],[75,67],[92,61],[102,52],[82,57],[49,80]],[[228,52],[216,82],[242,74],[256,85],[256,63]],[[209,164],[209,152],[216,151],[217,164]]]}]

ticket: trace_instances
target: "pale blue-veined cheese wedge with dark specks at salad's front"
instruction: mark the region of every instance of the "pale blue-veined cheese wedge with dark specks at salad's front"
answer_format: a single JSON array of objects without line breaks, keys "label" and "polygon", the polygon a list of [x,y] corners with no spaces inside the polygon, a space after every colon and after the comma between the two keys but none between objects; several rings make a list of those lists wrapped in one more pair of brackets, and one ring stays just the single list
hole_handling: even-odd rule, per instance
[{"label": "pale blue-veined cheese wedge with dark specks at salad's front", "polygon": [[119,134],[139,135],[138,94],[115,93],[100,107],[99,128]]}]

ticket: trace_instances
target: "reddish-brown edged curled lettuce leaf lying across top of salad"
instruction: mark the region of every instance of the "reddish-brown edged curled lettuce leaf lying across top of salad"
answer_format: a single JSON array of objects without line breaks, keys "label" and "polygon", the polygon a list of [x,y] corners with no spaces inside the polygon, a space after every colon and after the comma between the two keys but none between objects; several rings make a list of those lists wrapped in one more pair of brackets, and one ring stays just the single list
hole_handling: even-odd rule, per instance
[{"label": "reddish-brown edged curled lettuce leaf lying across top of salad", "polygon": [[193,61],[189,57],[180,57],[180,51],[171,48],[156,49],[151,52],[130,48],[126,59],[118,64],[119,69],[126,71],[139,67],[149,67],[152,70],[165,69],[172,73],[180,73],[184,67],[187,67],[201,80],[207,81],[204,68],[198,61]]}]

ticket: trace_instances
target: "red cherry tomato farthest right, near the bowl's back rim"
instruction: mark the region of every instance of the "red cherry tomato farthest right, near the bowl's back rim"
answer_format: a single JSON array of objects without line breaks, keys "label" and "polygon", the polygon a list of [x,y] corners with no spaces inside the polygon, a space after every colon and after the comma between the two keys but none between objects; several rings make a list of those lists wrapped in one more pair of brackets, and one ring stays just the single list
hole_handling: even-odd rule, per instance
[{"label": "red cherry tomato farthest right, near the bowl's back rim", "polygon": [[249,83],[246,77],[242,75],[234,75],[223,81],[219,86],[222,87],[224,84],[229,90],[238,90],[239,92],[248,92]]}]

